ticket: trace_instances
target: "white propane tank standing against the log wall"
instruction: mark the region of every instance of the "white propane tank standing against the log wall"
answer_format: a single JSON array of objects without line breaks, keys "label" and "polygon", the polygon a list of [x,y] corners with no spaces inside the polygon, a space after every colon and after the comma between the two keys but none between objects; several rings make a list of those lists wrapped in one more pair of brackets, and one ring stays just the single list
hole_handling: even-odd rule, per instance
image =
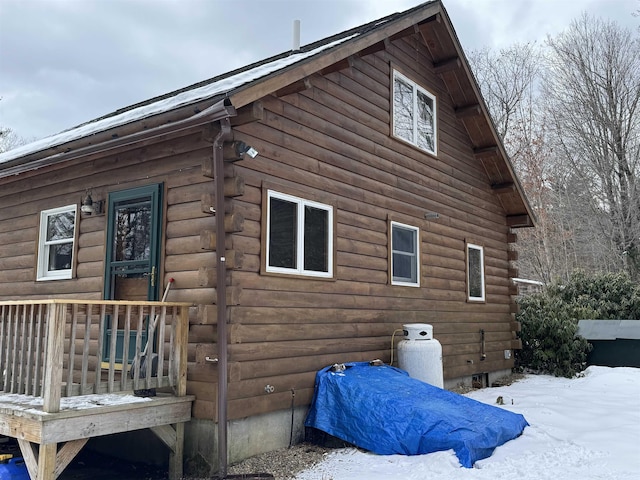
[{"label": "white propane tank standing against the log wall", "polygon": [[442,345],[433,338],[433,326],[409,323],[403,327],[404,340],[398,343],[398,366],[412,378],[444,388]]}]

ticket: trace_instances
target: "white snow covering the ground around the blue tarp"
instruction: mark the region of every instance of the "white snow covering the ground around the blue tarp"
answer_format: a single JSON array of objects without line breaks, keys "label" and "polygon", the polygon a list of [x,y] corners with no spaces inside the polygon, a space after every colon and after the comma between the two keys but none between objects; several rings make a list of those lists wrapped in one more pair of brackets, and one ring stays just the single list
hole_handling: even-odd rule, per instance
[{"label": "white snow covering the ground around the blue tarp", "polygon": [[296,480],[637,480],[640,479],[640,369],[589,367],[582,377],[528,375],[468,394],[521,413],[531,426],[474,468],[453,450],[429,455],[331,453]]}]

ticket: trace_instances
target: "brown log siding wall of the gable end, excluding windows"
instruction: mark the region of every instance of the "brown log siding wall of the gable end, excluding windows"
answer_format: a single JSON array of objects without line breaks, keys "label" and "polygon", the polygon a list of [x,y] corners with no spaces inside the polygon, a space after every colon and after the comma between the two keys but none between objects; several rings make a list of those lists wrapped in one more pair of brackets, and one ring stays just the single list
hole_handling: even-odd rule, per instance
[{"label": "brown log siding wall of the gable end, excluding windows", "polygon": [[[327,364],[389,361],[391,334],[403,323],[434,325],[447,378],[513,365],[504,359],[514,338],[509,228],[444,85],[432,71],[415,68],[428,57],[418,44],[416,62],[415,46],[409,37],[350,58],[349,68],[313,75],[311,88],[264,98],[263,121],[236,129],[260,156],[233,166],[246,185],[232,201],[245,219],[245,230],[233,236],[243,253],[243,265],[231,273],[241,289],[239,305],[230,309],[233,417],[287,408],[291,388],[296,402],[307,403],[315,371]],[[390,135],[394,67],[438,98],[437,157]],[[334,282],[260,273],[256,235],[265,184],[334,206]],[[426,220],[427,211],[440,218]],[[420,229],[419,289],[390,285],[389,218]],[[484,246],[483,303],[466,299],[469,239]],[[275,393],[264,393],[267,384]]]}]

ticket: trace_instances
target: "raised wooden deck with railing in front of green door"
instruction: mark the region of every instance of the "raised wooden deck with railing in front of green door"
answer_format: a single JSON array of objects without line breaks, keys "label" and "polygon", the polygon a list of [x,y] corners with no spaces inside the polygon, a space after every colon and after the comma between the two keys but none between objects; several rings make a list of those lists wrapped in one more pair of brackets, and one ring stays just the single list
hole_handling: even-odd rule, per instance
[{"label": "raised wooden deck with railing in front of green door", "polygon": [[[188,306],[0,302],[0,434],[18,440],[32,479],[57,478],[91,437],[143,428],[167,445],[170,478],[182,476]],[[109,321],[124,346],[102,333]],[[145,352],[157,355],[152,371],[140,368]],[[133,394],[144,389],[161,392]]]}]

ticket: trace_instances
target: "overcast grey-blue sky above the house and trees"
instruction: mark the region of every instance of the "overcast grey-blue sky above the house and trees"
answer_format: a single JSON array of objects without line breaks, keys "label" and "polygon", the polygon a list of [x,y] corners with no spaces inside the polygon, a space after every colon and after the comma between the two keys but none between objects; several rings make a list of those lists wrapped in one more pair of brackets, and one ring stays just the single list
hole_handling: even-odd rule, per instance
[{"label": "overcast grey-blue sky above the house and trees", "polygon": [[[0,126],[35,140],[421,0],[0,0]],[[640,0],[444,0],[465,50],[543,43]]]}]

